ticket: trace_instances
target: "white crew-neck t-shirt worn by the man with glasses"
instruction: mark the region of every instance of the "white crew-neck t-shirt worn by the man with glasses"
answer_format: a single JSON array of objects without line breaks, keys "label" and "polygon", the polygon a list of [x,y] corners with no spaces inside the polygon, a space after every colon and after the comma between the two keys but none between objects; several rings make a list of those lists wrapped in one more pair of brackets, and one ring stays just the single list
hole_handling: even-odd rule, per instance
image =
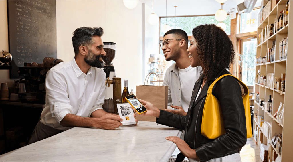
[{"label": "white crew-neck t-shirt worn by the man with glasses", "polygon": [[[185,112],[188,111],[188,107],[191,100],[192,90],[194,87],[195,82],[200,77],[200,71],[198,68],[188,66],[185,69],[179,69],[179,81],[180,81],[180,89],[181,89],[181,107]],[[191,77],[192,76],[192,77]]]}]

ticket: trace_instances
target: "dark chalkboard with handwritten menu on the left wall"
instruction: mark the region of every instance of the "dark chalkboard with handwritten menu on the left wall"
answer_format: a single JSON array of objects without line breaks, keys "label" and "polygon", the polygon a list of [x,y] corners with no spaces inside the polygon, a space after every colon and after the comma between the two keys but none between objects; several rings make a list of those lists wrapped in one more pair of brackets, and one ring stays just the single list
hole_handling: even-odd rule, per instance
[{"label": "dark chalkboard with handwritten menu on the left wall", "polygon": [[18,66],[57,58],[56,1],[7,1],[9,52],[13,59],[10,77],[20,78]]}]

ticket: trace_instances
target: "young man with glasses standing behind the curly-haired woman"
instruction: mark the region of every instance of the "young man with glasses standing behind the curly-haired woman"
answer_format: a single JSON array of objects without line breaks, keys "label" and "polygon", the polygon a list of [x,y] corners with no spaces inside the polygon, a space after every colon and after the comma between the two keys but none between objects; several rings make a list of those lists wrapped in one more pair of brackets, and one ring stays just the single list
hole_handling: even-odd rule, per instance
[{"label": "young man with glasses standing behind the curly-haired woman", "polygon": [[[188,36],[181,29],[172,29],[165,33],[160,43],[166,61],[175,61],[165,74],[163,86],[168,86],[168,106],[166,109],[178,115],[186,115],[190,104],[192,89],[202,71],[201,66],[191,67],[188,49]],[[177,109],[177,110],[175,110]]]}]

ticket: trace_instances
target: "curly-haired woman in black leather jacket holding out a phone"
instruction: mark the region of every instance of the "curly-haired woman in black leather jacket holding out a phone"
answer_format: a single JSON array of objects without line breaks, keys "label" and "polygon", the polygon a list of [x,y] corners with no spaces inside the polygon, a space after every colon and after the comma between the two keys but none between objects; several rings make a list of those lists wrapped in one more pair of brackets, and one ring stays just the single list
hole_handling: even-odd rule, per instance
[{"label": "curly-haired woman in black leather jacket holding out a phone", "polygon": [[[202,112],[207,90],[221,75],[230,74],[234,49],[228,35],[214,24],[200,25],[193,29],[190,47],[187,50],[191,66],[202,66],[200,79],[194,85],[190,106],[186,116],[159,110],[151,103],[141,100],[147,112],[140,114],[157,117],[159,124],[184,129],[184,140],[166,137],[191,161],[241,161],[240,150],[246,144],[246,119],[241,87],[232,76],[226,76],[216,83],[212,94],[219,100],[226,133],[216,139],[201,134]],[[136,115],[138,115],[136,113]],[[176,161],[182,161],[178,158]],[[180,157],[180,156],[179,156]]]}]

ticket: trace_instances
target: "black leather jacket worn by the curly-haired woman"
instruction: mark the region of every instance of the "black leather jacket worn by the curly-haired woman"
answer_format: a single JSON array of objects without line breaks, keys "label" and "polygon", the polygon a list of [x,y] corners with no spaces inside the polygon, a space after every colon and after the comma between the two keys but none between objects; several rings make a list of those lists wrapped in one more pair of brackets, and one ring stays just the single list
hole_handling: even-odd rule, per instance
[{"label": "black leather jacket worn by the curly-haired woman", "polygon": [[156,118],[159,124],[185,129],[184,141],[190,148],[196,150],[201,161],[235,154],[246,144],[246,118],[241,88],[239,82],[232,76],[225,76],[219,80],[212,90],[212,94],[221,104],[226,134],[216,139],[208,139],[200,133],[207,90],[217,77],[224,74],[230,73],[223,69],[217,76],[212,77],[203,86],[197,100],[195,98],[201,88],[202,78],[196,81],[186,116],[160,110],[160,117]]}]

